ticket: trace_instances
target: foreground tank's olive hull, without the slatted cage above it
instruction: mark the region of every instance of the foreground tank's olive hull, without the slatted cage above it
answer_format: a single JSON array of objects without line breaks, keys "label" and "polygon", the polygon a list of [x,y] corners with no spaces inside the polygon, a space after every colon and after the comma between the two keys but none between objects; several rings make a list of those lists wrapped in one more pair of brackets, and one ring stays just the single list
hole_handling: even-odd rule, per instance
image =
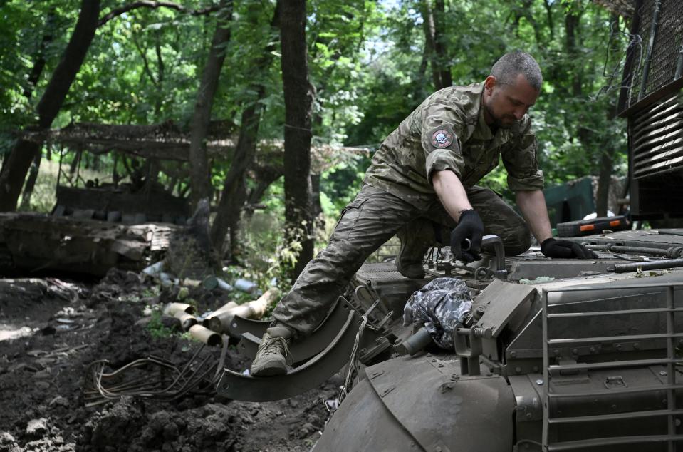
[{"label": "foreground tank's olive hull, without the slatted cage above it", "polygon": [[[507,258],[503,279],[454,271],[475,313],[454,349],[402,354],[414,330],[392,314],[393,357],[360,371],[314,450],[670,450],[683,439],[683,269],[617,273],[625,261],[604,250],[681,250],[683,230],[652,232],[575,239],[597,250],[592,261],[532,250]],[[366,264],[356,283],[382,300],[373,318],[412,293],[392,263]]]}]

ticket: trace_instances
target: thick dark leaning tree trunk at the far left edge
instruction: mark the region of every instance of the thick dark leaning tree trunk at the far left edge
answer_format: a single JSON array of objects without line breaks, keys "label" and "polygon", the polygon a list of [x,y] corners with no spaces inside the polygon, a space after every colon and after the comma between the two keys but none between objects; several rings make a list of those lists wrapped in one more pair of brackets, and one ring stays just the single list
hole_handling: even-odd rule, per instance
[{"label": "thick dark leaning tree trunk at the far left edge", "polygon": [[[85,60],[95,36],[100,14],[100,0],[82,0],[78,22],[61,61],[52,74],[43,97],[38,102],[38,122],[31,130],[47,130],[52,125],[66,98],[71,83]],[[16,209],[16,202],[33,158],[40,152],[42,143],[19,139],[12,147],[0,171],[0,212]]]}]

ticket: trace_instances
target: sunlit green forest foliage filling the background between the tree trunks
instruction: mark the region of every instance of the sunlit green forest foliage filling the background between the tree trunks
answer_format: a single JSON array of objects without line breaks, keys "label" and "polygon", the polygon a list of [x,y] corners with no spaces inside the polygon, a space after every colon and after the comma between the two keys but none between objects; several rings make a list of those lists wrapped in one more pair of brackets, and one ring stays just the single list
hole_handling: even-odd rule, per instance
[{"label": "sunlit green forest foliage filling the background between the tree trunks", "polygon": [[[454,84],[483,81],[494,61],[516,48],[528,51],[541,64],[545,83],[530,114],[547,185],[597,174],[604,153],[615,153],[614,173],[625,173],[625,124],[612,118],[614,87],[620,83],[629,39],[624,19],[615,21],[609,11],[588,0],[444,3],[444,17],[439,19],[447,27],[444,47]],[[182,2],[187,9],[213,4],[209,0]],[[424,4],[422,0],[307,2],[308,68],[316,89],[314,144],[374,150],[434,91],[425,59]],[[120,5],[103,1],[101,14]],[[241,113],[254,102],[259,86],[266,91],[259,101],[263,111],[259,140],[283,138],[281,49],[278,31],[271,26],[275,6],[274,0],[236,2],[233,19],[226,24],[231,40],[224,49],[226,60],[212,116],[232,124],[226,132],[235,141]],[[76,0],[4,2],[0,11],[0,157],[11,148],[16,131],[34,120],[36,104],[71,36],[79,8]],[[573,29],[569,24],[574,24]],[[150,124],[172,120],[187,128],[215,27],[215,14],[193,16],[168,8],[134,9],[109,21],[98,29],[53,127],[77,121]],[[616,32],[610,35],[610,29]],[[45,48],[45,69],[31,96],[26,96],[32,88],[28,74],[48,31],[53,39]],[[267,64],[261,65],[263,61]],[[74,155],[73,150],[64,149],[63,165],[71,163]],[[83,173],[84,178],[110,182],[113,155],[102,155],[98,170]],[[328,230],[360,188],[371,155],[330,155],[330,161],[323,163],[327,169],[320,178],[321,204]],[[53,207],[54,165],[55,161],[41,165],[33,209],[47,212]],[[120,160],[118,165],[122,174]],[[231,165],[230,153],[212,160],[215,188],[222,187]],[[88,166],[95,162],[85,158],[81,170],[85,172]],[[165,185],[175,182],[177,189],[187,185],[184,175],[187,166],[165,162],[159,180]],[[501,166],[482,183],[508,200],[513,197]],[[255,185],[256,181],[249,180],[249,188]],[[244,219],[239,237],[243,267],[234,269],[234,274],[254,279],[265,288],[273,277],[278,282],[287,280],[283,275],[300,244],[286,242],[282,233],[281,181],[259,202],[264,210]],[[319,244],[323,236],[318,232]]]}]

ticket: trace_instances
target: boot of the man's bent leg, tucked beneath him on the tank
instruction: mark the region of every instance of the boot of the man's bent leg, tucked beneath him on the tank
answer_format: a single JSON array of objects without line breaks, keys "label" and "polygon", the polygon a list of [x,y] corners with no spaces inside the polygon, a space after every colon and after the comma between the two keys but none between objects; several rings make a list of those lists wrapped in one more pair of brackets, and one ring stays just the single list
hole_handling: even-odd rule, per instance
[{"label": "boot of the man's bent leg, tucked beneath him on the tank", "polygon": [[401,250],[396,257],[396,269],[410,279],[424,278],[422,259],[434,243],[432,223],[421,218],[403,226],[396,236],[401,240]]}]

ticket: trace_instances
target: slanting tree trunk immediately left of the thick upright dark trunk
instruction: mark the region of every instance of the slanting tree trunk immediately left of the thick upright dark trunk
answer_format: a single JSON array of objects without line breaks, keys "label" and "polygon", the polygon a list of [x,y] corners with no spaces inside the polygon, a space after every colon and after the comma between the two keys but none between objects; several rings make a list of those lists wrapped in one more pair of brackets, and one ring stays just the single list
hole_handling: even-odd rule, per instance
[{"label": "slanting tree trunk immediately left of the thick upright dark trunk", "polygon": [[[278,1],[271,19],[271,31],[275,33],[279,26],[280,2]],[[269,41],[254,64],[254,78],[261,77],[273,61],[275,44]],[[239,215],[246,200],[246,171],[254,161],[256,143],[261,123],[261,100],[266,96],[266,87],[262,83],[254,83],[250,91],[256,91],[256,97],[242,111],[239,138],[232,158],[230,171],[224,180],[223,192],[218,205],[218,212],[211,229],[211,240],[217,250],[222,250],[226,233],[230,229],[231,250],[234,250],[234,237],[239,225]]]}]

